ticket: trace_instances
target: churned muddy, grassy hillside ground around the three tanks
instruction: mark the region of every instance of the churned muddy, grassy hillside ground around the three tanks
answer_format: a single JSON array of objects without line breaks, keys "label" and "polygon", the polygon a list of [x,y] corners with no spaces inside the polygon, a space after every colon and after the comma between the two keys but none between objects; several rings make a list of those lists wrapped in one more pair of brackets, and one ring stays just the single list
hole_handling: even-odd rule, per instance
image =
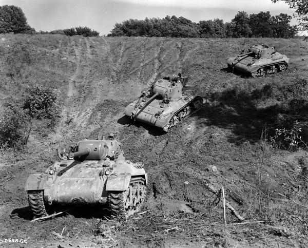
[{"label": "churned muddy, grassy hillside ground around the three tanks", "polygon": [[[293,199],[304,203],[306,189],[298,189],[298,158],[305,156],[304,151],[262,146],[262,128],[275,113],[267,116],[247,102],[210,98],[236,85],[257,88],[307,78],[307,43],[300,39],[3,37],[2,47],[27,44],[35,60],[23,68],[18,80],[6,78],[3,67],[2,103],[16,90],[22,96],[26,84],[42,84],[59,91],[62,118],[53,131],[36,121],[24,152],[2,151],[0,239],[26,239],[27,244],[0,246],[308,246],[306,209],[278,195],[292,193]],[[291,59],[289,69],[258,79],[225,70],[228,56],[255,43],[275,45]],[[189,84],[201,89],[205,102],[168,133],[123,116],[125,106],[162,72],[187,75]],[[28,175],[42,173],[57,159],[57,144],[68,148],[109,131],[118,131],[127,159],[145,164],[149,185],[142,214],[117,221],[102,207],[78,207],[50,220],[30,222],[24,191]],[[227,211],[225,228],[222,204],[216,204],[208,184],[223,186],[226,200],[251,223],[237,224],[239,220]]]}]

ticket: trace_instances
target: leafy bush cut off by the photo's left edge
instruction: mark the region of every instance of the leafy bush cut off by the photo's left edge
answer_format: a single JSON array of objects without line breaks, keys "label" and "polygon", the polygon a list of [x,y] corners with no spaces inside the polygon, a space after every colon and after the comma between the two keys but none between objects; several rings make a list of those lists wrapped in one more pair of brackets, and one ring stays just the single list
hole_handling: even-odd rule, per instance
[{"label": "leafy bush cut off by the photo's left edge", "polygon": [[0,117],[0,145],[5,147],[24,147],[31,130],[29,111],[21,104],[9,101]]}]

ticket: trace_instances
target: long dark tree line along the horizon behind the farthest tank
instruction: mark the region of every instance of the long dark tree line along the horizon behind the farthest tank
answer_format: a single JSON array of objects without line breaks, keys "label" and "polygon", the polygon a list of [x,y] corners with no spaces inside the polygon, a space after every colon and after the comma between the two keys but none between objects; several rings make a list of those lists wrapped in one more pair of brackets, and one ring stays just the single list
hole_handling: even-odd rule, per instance
[{"label": "long dark tree line along the horizon behind the farthest tank", "polygon": [[129,19],[116,23],[108,36],[156,36],[156,37],[294,37],[297,27],[291,26],[292,16],[271,16],[269,11],[248,15],[239,11],[231,22],[223,20],[194,23],[187,18],[167,15],[164,18]]}]

